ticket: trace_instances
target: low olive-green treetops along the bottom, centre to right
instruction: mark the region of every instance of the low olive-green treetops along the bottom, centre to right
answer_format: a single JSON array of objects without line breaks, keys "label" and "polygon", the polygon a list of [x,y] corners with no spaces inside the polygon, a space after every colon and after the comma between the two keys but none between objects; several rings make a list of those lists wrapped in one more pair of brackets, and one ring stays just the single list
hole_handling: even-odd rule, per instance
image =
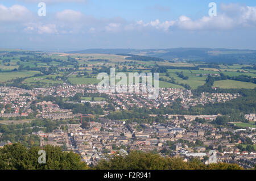
[{"label": "low olive-green treetops along the bottom, centre to right", "polygon": [[98,170],[242,170],[236,164],[217,163],[205,165],[200,159],[183,162],[181,158],[161,157],[158,154],[131,151],[129,155],[115,155],[109,161],[102,160]]}]

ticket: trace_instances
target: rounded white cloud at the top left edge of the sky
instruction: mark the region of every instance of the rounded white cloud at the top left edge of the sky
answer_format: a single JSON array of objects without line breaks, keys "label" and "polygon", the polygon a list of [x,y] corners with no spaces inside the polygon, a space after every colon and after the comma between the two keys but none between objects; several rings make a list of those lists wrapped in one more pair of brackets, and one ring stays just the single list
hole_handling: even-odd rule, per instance
[{"label": "rounded white cloud at the top left edge of the sky", "polygon": [[0,22],[23,22],[31,16],[31,12],[24,6],[13,5],[6,7],[0,5]]}]

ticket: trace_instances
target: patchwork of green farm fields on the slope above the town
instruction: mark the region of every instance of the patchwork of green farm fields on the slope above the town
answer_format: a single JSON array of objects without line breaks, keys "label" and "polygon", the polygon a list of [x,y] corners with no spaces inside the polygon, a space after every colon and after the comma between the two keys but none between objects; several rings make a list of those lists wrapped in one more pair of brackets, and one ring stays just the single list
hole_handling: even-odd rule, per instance
[{"label": "patchwork of green farm fields on the slope above the town", "polygon": [[[145,54],[146,55],[146,54]],[[68,57],[75,58],[79,64],[80,68],[78,68],[73,75],[68,77],[68,82],[72,84],[96,84],[99,83],[101,80],[97,79],[96,75],[92,75],[92,69],[101,69],[102,66],[106,66],[109,68],[112,66],[113,68],[116,68],[118,70],[122,70],[124,67],[127,68],[127,71],[129,72],[150,72],[152,68],[155,68],[156,66],[179,66],[179,67],[195,67],[198,65],[209,65],[204,64],[204,62],[187,62],[187,61],[135,61],[135,60],[126,60],[125,58],[127,56],[118,56],[115,54],[82,54],[82,53],[46,53],[41,55],[45,58],[52,58],[56,59],[52,61],[39,61],[36,60],[36,56],[34,55],[26,55],[26,54],[13,54],[11,57],[3,57],[2,60],[0,60],[0,70],[13,70],[14,68],[19,68],[19,65],[23,65],[23,67],[29,66],[29,68],[49,68],[51,66],[57,67],[60,69],[69,69],[67,70],[69,73],[71,73],[72,69],[74,68],[74,65],[71,64],[71,62],[68,61]],[[27,61],[21,61],[19,60],[20,57],[30,57]],[[102,61],[88,61],[88,60],[96,60],[96,59],[102,59]],[[10,61],[6,61],[10,60]],[[63,62],[59,62],[59,61]],[[109,60],[109,61],[105,61]],[[159,87],[174,87],[174,88],[184,88],[183,86],[185,84],[189,85],[192,89],[197,89],[197,87],[202,86],[205,84],[205,80],[207,79],[207,75],[205,74],[220,74],[224,73],[225,75],[229,75],[230,77],[238,76],[238,75],[250,75],[251,77],[255,77],[256,70],[250,69],[250,70],[242,70],[242,67],[247,67],[252,65],[240,65],[240,64],[233,64],[233,65],[227,65],[227,64],[218,64],[220,69],[218,68],[200,68],[200,70],[189,70],[189,69],[167,69],[167,73],[169,74],[167,77],[167,73],[159,73],[159,78],[163,78],[161,81],[159,81]],[[213,66],[214,67],[214,66]],[[85,71],[89,74],[89,76],[84,77],[76,77],[77,73],[83,73],[83,69],[86,69]],[[44,69],[42,69],[44,70]],[[226,70],[226,71],[225,71]],[[237,70],[244,71],[244,72],[237,72]],[[41,70],[40,70],[41,71]],[[44,75],[41,77],[32,77],[34,74],[40,73],[40,71],[0,71],[0,82],[6,82],[13,78],[17,77],[31,77],[27,78],[23,81],[24,84],[29,86],[53,86],[53,85],[59,85],[64,83],[61,79],[55,79],[57,75],[62,77],[65,73],[65,71],[56,71],[55,73],[50,73],[49,75]],[[43,72],[43,71],[42,71]],[[183,79],[176,74],[183,73],[184,77],[188,77],[188,79]],[[57,74],[56,74],[57,73]],[[116,73],[117,70],[116,70]],[[125,72],[126,75],[128,75],[128,72]],[[197,76],[196,76],[197,74]],[[199,76],[199,74],[203,74],[203,76]],[[88,77],[88,78],[87,78]],[[128,76],[127,76],[128,77]],[[171,78],[174,78],[174,81],[177,83],[169,83]],[[164,81],[166,79],[166,82]],[[66,82],[66,83],[68,83]],[[119,80],[116,80],[116,82],[119,82]],[[128,82],[128,81],[127,81]],[[154,81],[152,81],[154,83]],[[180,86],[178,84],[183,84],[183,86]],[[232,81],[232,80],[225,80],[225,81],[215,81],[214,86],[221,87],[224,89],[234,88],[234,89],[240,89],[240,88],[247,88],[247,89],[253,89],[255,87],[255,84],[248,83],[248,82],[240,82],[240,81]]]}]

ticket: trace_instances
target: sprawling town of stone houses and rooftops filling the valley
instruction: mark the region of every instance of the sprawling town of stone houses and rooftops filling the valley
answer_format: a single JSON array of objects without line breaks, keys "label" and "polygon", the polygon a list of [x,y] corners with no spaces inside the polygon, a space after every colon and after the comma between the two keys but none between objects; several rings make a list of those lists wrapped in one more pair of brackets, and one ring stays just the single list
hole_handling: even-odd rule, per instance
[{"label": "sprawling town of stone houses and rooftops filling the valley", "polygon": [[[64,151],[79,153],[87,165],[97,165],[101,159],[108,159],[107,155],[127,155],[130,150],[158,153],[163,157],[181,157],[184,162],[197,157],[205,164],[227,162],[237,163],[245,168],[255,165],[255,149],[241,146],[256,144],[255,128],[218,128],[211,122],[221,116],[220,114],[150,115],[152,119],[164,119],[163,123],[156,120],[152,123],[137,123],[106,117],[111,112],[106,109],[109,105],[112,105],[113,111],[129,110],[134,106],[151,110],[166,107],[179,99],[183,108],[190,108],[197,104],[237,99],[240,94],[203,92],[200,96],[193,96],[190,90],[160,88],[157,99],[148,99],[147,93],[100,94],[96,85],[63,85],[32,90],[0,87],[0,95],[2,120],[13,120],[15,117],[52,121],[75,120],[73,124],[60,124],[52,132],[39,130],[31,135],[40,138],[40,146],[61,146]],[[83,96],[92,95],[101,99],[82,99]],[[40,100],[44,96],[61,97],[67,103],[98,105],[104,109],[104,114],[74,113],[72,109],[60,108],[50,100]],[[255,113],[245,115],[245,119],[256,121]],[[1,143],[2,146],[5,144],[10,144],[10,141]]]}]

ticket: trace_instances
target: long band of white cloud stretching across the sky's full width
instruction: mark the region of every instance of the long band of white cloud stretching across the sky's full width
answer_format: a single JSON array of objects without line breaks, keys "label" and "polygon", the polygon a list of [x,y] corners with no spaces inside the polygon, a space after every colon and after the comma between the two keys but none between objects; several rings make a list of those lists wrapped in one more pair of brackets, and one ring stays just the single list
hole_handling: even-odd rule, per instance
[{"label": "long band of white cloud stretching across the sky's full width", "polygon": [[[51,2],[57,2],[53,0]],[[82,0],[65,2],[82,2]],[[44,1],[46,2],[46,1]],[[63,1],[61,1],[63,2]],[[85,2],[85,1],[83,1]],[[40,19],[41,20],[41,19]],[[241,6],[238,4],[221,4],[217,9],[217,16],[193,20],[188,16],[182,15],[175,20],[160,21],[159,19],[151,22],[127,22],[122,18],[94,18],[80,11],[63,10],[54,15],[49,14],[39,22],[39,17],[32,14],[26,7],[13,5],[6,7],[0,5],[0,22],[20,22],[26,32],[37,33],[96,33],[96,32],[119,32],[119,31],[164,31],[170,30],[234,30],[236,28],[255,28],[256,27],[256,7]],[[16,25],[15,24],[15,25]],[[17,28],[18,29],[18,28]],[[18,31],[18,30],[17,30]]]}]

